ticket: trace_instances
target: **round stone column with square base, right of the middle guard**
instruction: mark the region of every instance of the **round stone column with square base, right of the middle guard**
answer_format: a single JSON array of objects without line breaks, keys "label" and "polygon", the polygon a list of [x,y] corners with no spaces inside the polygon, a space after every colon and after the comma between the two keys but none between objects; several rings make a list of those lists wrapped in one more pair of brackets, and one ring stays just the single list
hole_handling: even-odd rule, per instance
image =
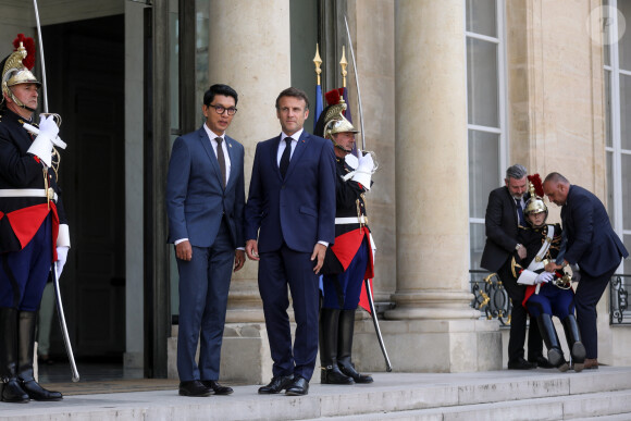
[{"label": "round stone column with square base, right of the middle guard", "polygon": [[[395,5],[397,281],[382,323],[395,371],[502,363],[497,323],[469,306],[463,17],[460,0]],[[366,362],[382,361],[376,352]]]}]

